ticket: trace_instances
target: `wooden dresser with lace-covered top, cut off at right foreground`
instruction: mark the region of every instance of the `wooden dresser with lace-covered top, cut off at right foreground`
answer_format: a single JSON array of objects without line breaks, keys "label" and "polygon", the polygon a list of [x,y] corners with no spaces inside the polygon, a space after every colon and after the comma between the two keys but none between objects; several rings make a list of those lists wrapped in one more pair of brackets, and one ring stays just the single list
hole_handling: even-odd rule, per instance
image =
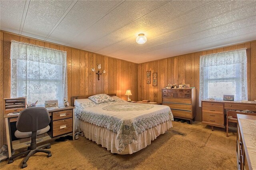
[{"label": "wooden dresser with lace-covered top, cut off at right foreground", "polygon": [[236,153],[238,170],[253,170],[256,169],[256,145],[254,143],[256,116],[238,114],[237,117]]}]

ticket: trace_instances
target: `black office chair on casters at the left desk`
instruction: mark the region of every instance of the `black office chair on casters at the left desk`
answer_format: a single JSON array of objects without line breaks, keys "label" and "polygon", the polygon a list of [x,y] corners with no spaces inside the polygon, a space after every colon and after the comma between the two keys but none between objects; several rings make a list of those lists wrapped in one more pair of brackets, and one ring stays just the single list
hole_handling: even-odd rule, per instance
[{"label": "black office chair on casters at the left desk", "polygon": [[52,156],[50,150],[44,150],[45,148],[51,148],[50,143],[36,147],[36,135],[41,135],[49,131],[50,121],[51,119],[49,112],[44,107],[29,107],[21,111],[16,123],[17,131],[15,131],[14,135],[17,138],[31,137],[31,143],[30,147],[28,147],[28,150],[11,156],[8,164],[12,163],[14,158],[17,158],[23,154],[26,155],[26,158],[23,160],[22,168],[28,166],[26,164],[28,158],[36,152],[47,153],[47,157]]}]

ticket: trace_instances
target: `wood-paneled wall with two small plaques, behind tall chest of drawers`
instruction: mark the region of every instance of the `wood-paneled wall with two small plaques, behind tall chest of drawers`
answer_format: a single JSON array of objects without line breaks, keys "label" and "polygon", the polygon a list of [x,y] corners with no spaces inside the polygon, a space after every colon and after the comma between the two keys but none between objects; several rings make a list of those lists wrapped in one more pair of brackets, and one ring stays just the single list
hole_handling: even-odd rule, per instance
[{"label": "wood-paneled wall with two small plaques, behind tall chest of drawers", "polygon": [[[247,48],[248,100],[256,100],[256,41],[231,45],[208,51],[200,51],[138,65],[138,100],[162,102],[162,88],[167,84],[190,84],[196,88],[196,121],[202,121],[198,106],[199,61],[201,55]],[[146,71],[158,72],[158,86],[146,84]],[[152,82],[152,81],[151,81]]]}]

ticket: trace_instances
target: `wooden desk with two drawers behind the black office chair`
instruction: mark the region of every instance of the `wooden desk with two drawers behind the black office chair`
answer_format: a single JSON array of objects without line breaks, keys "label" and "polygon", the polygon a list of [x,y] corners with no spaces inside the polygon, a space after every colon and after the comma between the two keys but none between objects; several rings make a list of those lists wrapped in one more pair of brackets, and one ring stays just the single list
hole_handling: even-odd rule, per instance
[{"label": "wooden desk with two drawers behind the black office chair", "polygon": [[[47,133],[51,138],[60,137],[62,135],[67,135],[69,133],[72,133],[73,140],[74,140],[74,137],[75,137],[74,108],[75,107],[68,106],[65,108],[48,110],[49,115],[51,117],[51,121],[49,124],[50,130]],[[9,158],[12,156],[12,135],[11,135],[10,122],[17,121],[18,116],[19,115],[10,116],[8,115],[8,113],[4,113]]]}]

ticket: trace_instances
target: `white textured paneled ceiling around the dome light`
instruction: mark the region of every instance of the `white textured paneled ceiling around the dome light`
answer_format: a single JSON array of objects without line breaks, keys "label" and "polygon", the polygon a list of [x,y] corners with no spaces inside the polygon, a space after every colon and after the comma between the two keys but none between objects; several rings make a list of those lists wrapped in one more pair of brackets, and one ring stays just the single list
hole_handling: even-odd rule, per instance
[{"label": "white textured paneled ceiling around the dome light", "polygon": [[255,0],[0,0],[0,29],[143,63],[255,40],[255,11]]}]

